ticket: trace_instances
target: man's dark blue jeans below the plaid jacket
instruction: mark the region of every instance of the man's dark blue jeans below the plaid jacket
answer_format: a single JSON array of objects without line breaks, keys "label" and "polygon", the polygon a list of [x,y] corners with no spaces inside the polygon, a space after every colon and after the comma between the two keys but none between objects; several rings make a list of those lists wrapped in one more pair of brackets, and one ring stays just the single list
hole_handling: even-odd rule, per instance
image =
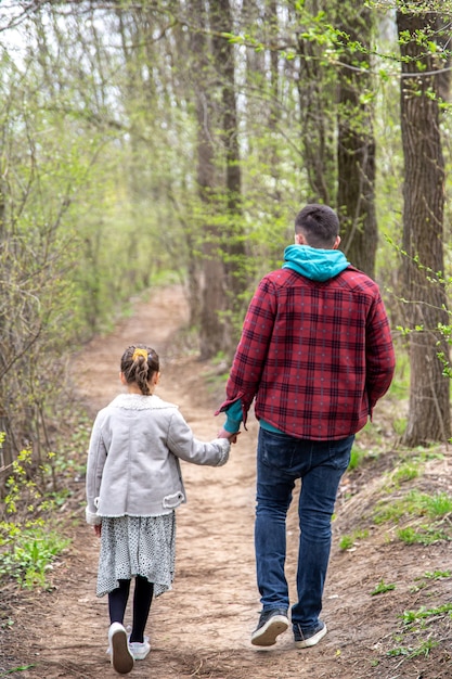
[{"label": "man's dark blue jeans below the plaid jacket", "polygon": [[288,610],[286,515],[295,482],[301,478],[298,504],[300,537],[298,602],[292,624],[315,629],[322,610],[330,560],[331,521],[340,478],[350,462],[354,436],[340,440],[306,440],[260,427],[257,450],[255,550],[262,610]]}]

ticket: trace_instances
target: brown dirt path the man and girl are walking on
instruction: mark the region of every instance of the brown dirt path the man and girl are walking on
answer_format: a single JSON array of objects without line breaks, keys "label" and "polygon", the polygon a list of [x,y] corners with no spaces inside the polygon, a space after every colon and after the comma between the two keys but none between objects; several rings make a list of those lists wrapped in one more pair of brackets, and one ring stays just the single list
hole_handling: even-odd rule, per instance
[{"label": "brown dirt path the man and girl are walking on", "polygon": [[[80,394],[94,413],[119,390],[118,360],[134,342],[151,344],[159,353],[163,375],[158,394],[178,403],[195,435],[215,436],[220,420],[205,388],[205,368],[196,357],[183,355],[171,342],[185,322],[180,289],[153,294],[139,303],[132,318],[113,333],[98,337],[78,357],[75,375]],[[137,678],[189,679],[367,679],[379,677],[452,677],[441,674],[447,663],[421,658],[409,667],[385,661],[397,627],[397,613],[410,607],[410,587],[428,568],[449,567],[445,547],[435,551],[401,551],[378,536],[365,549],[340,552],[335,539],[325,589],[323,617],[328,635],[318,646],[296,651],[290,632],[271,650],[256,650],[250,631],[260,610],[255,584],[253,549],[255,508],[256,422],[241,435],[230,462],[220,469],[183,465],[188,504],[178,510],[175,587],[153,602],[147,633],[152,653],[130,675]],[[296,501],[293,503],[294,507]],[[364,511],[360,496],[338,501],[338,529]],[[83,517],[83,507],[79,516]],[[4,667],[26,667],[8,676],[22,679],[92,679],[118,677],[106,650],[106,599],[94,595],[98,539],[83,522],[69,523],[74,539],[68,555],[56,567],[55,590],[17,599],[15,626],[3,649]],[[294,509],[288,522],[287,574],[293,581],[297,526]],[[293,537],[293,539],[290,539]],[[390,598],[372,598],[384,579],[398,581]],[[431,592],[430,592],[431,597]],[[431,599],[430,599],[431,600]],[[126,624],[130,620],[128,612]],[[449,658],[450,659],[450,658]],[[421,671],[421,666],[423,671]],[[444,671],[449,671],[448,668]],[[5,676],[1,672],[0,677]]]}]

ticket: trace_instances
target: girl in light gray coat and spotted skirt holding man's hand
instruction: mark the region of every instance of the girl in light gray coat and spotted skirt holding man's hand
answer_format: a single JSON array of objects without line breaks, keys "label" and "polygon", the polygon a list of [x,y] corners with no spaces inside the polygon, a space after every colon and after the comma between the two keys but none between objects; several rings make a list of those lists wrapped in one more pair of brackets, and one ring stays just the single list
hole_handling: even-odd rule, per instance
[{"label": "girl in light gray coat and spotted skirt holding man's hand", "polygon": [[[87,522],[101,537],[96,595],[108,594],[108,652],[127,674],[151,650],[144,628],[153,595],[169,590],[175,575],[175,510],[185,502],[179,458],[220,466],[230,441],[208,444],[193,433],[177,406],[154,395],[158,356],[144,345],[126,349],[119,377],[128,393],[95,418],[87,465]],[[135,578],[132,630],[124,616]]]}]

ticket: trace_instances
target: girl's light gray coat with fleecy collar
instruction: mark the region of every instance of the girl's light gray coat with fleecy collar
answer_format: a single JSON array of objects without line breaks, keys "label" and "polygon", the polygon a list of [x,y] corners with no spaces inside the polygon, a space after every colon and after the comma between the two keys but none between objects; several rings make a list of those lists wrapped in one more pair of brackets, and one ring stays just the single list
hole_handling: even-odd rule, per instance
[{"label": "girl's light gray coat with fleecy collar", "polygon": [[178,407],[158,396],[117,396],[98,413],[91,433],[87,522],[168,514],[185,502],[179,458],[220,466],[229,450],[225,438],[194,438]]}]

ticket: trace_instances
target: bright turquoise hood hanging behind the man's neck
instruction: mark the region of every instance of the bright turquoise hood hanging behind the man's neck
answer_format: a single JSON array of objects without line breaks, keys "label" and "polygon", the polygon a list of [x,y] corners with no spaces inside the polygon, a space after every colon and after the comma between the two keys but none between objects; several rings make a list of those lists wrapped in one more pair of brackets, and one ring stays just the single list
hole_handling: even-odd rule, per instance
[{"label": "bright turquoise hood hanging behind the man's neck", "polygon": [[284,251],[283,269],[293,269],[311,281],[327,281],[348,266],[345,254],[338,249],[289,245]]}]

